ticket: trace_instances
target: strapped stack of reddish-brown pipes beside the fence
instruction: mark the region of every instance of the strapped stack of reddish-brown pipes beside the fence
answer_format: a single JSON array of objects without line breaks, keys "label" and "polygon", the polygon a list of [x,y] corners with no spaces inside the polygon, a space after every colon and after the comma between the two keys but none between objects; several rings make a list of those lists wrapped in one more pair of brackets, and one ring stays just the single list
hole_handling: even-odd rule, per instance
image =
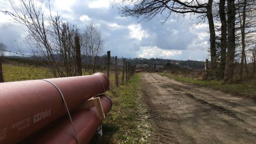
[{"label": "strapped stack of reddish-brown pipes beside the fence", "polygon": [[[0,144],[87,144],[103,120],[78,107],[108,89],[102,73],[0,83]],[[107,115],[111,100],[100,100]]]}]

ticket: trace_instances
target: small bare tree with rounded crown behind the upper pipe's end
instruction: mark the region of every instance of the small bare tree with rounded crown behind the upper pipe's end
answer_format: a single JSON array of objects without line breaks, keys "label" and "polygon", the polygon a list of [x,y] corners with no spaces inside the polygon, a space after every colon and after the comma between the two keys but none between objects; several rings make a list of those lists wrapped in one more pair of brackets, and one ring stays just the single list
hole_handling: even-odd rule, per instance
[{"label": "small bare tree with rounded crown behind the upper pipe's end", "polygon": [[86,26],[83,34],[83,53],[85,63],[90,74],[95,73],[95,64],[97,56],[102,52],[103,40],[100,33],[93,23]]}]

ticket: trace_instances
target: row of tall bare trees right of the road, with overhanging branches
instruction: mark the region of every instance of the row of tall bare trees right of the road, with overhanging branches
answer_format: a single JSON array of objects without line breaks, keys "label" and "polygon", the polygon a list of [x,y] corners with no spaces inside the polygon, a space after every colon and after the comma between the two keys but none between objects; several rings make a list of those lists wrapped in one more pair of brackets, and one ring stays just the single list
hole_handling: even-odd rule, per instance
[{"label": "row of tall bare trees right of the road, with overhanging branches", "polygon": [[232,82],[234,63],[240,60],[240,79],[248,73],[251,59],[254,77],[256,57],[256,3],[255,0],[121,0],[117,2],[124,16],[140,17],[150,21],[158,14],[192,16],[197,24],[208,22],[210,34],[210,69],[207,74]]}]

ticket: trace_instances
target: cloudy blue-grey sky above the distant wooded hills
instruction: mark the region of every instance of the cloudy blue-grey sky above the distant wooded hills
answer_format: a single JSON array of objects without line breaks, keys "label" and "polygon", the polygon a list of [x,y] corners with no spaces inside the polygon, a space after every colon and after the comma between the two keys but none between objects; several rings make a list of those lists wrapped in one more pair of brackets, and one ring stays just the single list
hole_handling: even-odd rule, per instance
[{"label": "cloudy blue-grey sky above the distant wooded hills", "polygon": [[[43,6],[48,12],[47,0]],[[88,23],[95,23],[104,39],[104,51],[112,56],[167,58],[176,60],[205,60],[209,54],[207,23],[195,26],[190,19],[170,17],[164,25],[164,15],[145,22],[135,17],[122,17],[109,0],[50,0],[51,10],[62,15],[62,20],[76,25],[81,32]],[[12,8],[8,0],[0,0],[0,10]],[[0,12],[0,42],[9,50],[17,51],[16,42],[23,43],[26,28],[14,23]],[[26,53],[29,50],[22,44]]]}]

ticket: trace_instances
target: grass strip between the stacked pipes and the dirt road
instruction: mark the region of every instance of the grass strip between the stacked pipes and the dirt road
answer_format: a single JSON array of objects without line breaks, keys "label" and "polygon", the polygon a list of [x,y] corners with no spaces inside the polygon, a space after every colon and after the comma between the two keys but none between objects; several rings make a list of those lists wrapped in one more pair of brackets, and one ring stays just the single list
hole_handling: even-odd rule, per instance
[{"label": "grass strip between the stacked pipes and the dirt road", "polygon": [[[141,88],[140,73],[123,86],[111,86],[107,94],[111,96],[113,106],[102,123],[103,144],[149,143],[152,121],[142,103]],[[94,142],[92,139],[91,144]]]}]

